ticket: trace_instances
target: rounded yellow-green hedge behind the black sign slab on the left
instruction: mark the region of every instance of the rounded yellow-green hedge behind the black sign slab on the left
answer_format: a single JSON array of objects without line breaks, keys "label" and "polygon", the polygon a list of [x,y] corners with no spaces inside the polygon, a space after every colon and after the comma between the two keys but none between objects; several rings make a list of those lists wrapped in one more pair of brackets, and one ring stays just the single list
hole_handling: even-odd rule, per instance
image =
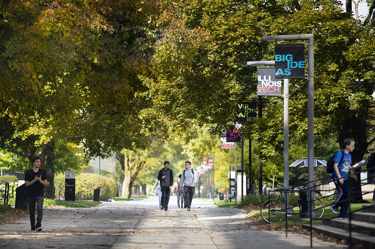
[{"label": "rounded yellow-green hedge behind the black sign slab on the left", "polygon": [[[58,188],[61,186],[60,198],[64,198],[65,194],[65,174],[55,175],[55,193],[58,195]],[[75,177],[75,199],[76,200],[92,200],[94,199],[94,189],[100,187],[100,200],[107,201],[113,198],[117,193],[117,183],[110,177],[81,173]]]}]

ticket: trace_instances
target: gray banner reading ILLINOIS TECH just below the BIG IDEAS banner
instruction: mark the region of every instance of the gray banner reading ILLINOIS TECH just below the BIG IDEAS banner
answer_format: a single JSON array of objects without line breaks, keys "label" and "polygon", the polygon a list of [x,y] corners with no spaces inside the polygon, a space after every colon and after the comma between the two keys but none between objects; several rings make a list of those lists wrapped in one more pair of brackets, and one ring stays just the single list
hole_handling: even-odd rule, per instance
[{"label": "gray banner reading ILLINOIS TECH just below the BIG IDEAS banner", "polygon": [[257,68],[258,96],[281,96],[282,84],[275,78],[275,68]]}]

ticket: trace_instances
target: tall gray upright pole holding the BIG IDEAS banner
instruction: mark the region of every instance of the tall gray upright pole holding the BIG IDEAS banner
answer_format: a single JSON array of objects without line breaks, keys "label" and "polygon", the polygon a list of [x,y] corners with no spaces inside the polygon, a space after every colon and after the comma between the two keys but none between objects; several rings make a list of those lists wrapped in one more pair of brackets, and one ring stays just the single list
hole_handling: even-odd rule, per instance
[{"label": "tall gray upright pole holding the BIG IDEAS banner", "polygon": [[[309,189],[314,189],[314,35],[308,40],[308,100],[307,100],[307,148]],[[310,192],[309,208],[312,210],[313,191]]]}]

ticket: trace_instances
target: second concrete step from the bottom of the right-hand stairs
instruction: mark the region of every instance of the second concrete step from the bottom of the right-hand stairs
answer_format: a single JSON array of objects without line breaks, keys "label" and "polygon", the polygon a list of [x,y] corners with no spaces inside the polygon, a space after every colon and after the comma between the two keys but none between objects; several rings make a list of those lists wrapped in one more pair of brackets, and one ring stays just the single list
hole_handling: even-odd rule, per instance
[{"label": "second concrete step from the bottom of the right-hand stairs", "polygon": [[[345,230],[349,229],[349,220],[339,220],[339,218],[335,219],[323,219],[323,225],[333,226],[337,228],[342,228]],[[372,223],[363,222],[359,220],[351,220],[351,231],[355,231],[358,233],[368,234],[370,236],[375,236],[375,226]]]}]

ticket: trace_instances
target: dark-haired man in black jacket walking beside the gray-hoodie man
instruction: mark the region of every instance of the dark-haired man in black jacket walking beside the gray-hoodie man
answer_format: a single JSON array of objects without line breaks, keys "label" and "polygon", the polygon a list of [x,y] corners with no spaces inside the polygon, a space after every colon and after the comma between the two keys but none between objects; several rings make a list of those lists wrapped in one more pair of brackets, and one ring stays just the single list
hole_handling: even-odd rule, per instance
[{"label": "dark-haired man in black jacket walking beside the gray-hoodie man", "polygon": [[171,194],[173,184],[173,171],[168,169],[169,162],[164,162],[164,168],[160,169],[157,180],[160,181],[160,187],[162,189],[162,207],[160,210],[168,211],[169,195]]}]

